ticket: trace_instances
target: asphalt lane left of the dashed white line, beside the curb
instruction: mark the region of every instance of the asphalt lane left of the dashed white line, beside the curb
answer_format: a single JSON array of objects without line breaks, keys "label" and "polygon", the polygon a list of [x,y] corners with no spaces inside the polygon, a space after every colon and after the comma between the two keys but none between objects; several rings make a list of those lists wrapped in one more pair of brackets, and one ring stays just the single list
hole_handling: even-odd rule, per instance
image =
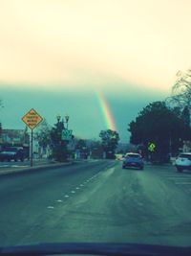
[{"label": "asphalt lane left of the dashed white line, beside the curb", "polygon": [[38,232],[41,222],[49,221],[50,209],[65,196],[74,195],[80,185],[84,184],[81,190],[86,189],[87,180],[113,164],[96,161],[33,174],[1,176],[0,244],[17,244],[30,230]]}]

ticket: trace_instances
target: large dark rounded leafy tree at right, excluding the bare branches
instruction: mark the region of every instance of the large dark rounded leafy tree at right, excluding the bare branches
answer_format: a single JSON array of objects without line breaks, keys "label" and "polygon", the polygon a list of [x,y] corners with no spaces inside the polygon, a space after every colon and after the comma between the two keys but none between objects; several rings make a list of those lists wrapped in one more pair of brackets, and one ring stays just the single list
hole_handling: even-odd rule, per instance
[{"label": "large dark rounded leafy tree at right, excluding the bare branches", "polygon": [[183,139],[187,129],[182,121],[182,113],[178,107],[169,108],[164,102],[149,104],[139,112],[136,121],[129,124],[130,142],[141,144],[146,149],[150,142],[155,143],[159,158],[175,153],[180,148],[180,139]]}]

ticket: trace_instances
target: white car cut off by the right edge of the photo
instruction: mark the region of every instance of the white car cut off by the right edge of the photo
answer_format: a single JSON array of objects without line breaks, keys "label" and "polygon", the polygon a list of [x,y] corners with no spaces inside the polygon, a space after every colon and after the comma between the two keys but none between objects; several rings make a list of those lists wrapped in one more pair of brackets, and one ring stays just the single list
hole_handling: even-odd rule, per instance
[{"label": "white car cut off by the right edge of the photo", "polygon": [[175,166],[178,172],[191,170],[191,152],[181,152],[175,160]]}]

